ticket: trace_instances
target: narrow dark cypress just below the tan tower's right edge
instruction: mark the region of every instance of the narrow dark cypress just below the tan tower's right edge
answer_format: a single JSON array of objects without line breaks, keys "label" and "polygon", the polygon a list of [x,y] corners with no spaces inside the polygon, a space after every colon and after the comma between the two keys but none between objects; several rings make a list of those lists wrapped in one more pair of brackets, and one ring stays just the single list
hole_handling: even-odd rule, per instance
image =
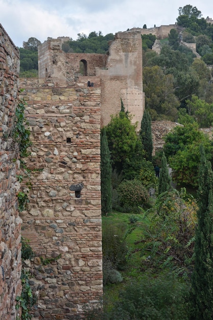
[{"label": "narrow dark cypress just below the tan tower's right edge", "polygon": [[144,116],[140,124],[140,139],[144,146],[147,161],[152,161],[152,126],[149,111],[144,110]]}]

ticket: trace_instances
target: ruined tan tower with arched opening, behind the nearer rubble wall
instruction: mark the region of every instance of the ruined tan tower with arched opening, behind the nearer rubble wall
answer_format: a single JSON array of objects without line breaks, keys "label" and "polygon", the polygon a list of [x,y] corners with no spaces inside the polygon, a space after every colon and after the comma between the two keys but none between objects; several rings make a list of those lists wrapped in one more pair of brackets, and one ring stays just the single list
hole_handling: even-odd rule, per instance
[{"label": "ruined tan tower with arched opening, behind the nearer rubble wall", "polygon": [[[101,126],[121,109],[121,98],[126,110],[140,121],[144,112],[142,44],[139,31],[119,32],[109,47],[109,54],[77,54],[62,51],[66,38],[48,39],[38,48],[39,78],[76,81],[80,87],[87,81],[101,87]],[[83,77],[80,65],[83,65]]]}]

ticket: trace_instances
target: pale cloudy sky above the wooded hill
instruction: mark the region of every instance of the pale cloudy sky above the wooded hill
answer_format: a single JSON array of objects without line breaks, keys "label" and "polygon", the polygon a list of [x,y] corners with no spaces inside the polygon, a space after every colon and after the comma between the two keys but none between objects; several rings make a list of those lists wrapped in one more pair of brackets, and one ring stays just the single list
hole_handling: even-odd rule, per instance
[{"label": "pale cloudy sky above the wooded hill", "polygon": [[41,42],[48,37],[68,36],[91,31],[103,35],[174,24],[178,8],[197,7],[202,17],[213,18],[212,0],[0,0],[0,24],[17,47],[35,37]]}]

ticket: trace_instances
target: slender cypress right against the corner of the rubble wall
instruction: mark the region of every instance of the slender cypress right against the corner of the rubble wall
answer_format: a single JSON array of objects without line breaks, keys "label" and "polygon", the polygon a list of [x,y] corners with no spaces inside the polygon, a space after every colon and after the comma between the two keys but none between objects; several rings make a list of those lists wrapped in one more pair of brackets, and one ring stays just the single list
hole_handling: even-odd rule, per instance
[{"label": "slender cypress right against the corner of the rubble wall", "polygon": [[106,215],[112,210],[111,159],[105,128],[101,134],[101,211]]}]

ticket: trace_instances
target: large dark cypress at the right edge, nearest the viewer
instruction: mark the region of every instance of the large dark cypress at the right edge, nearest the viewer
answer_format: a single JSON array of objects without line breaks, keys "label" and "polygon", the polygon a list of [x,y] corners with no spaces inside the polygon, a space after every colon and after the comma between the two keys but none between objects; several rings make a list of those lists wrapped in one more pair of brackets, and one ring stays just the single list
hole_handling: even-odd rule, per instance
[{"label": "large dark cypress at the right edge, nearest the viewer", "polygon": [[201,146],[199,168],[199,210],[195,240],[195,268],[192,275],[192,319],[213,319],[213,173]]}]

